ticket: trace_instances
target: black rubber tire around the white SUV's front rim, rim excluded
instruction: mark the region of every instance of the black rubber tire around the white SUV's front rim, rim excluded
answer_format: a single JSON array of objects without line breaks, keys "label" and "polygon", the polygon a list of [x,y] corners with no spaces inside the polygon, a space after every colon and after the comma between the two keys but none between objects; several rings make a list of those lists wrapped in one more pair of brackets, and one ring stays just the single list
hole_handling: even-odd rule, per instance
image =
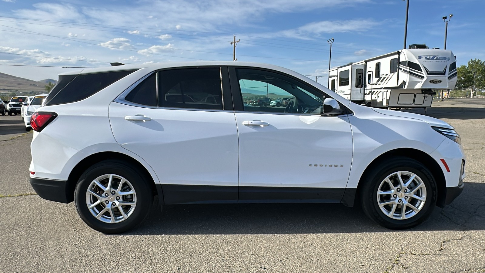
[{"label": "black rubber tire around the white SUV's front rim, rim excluded", "polygon": [[[384,183],[384,179],[386,179],[389,175],[397,171],[407,171],[417,175],[418,178],[423,182],[425,188],[425,201],[424,205],[420,208],[420,210],[415,213],[413,216],[407,219],[394,219],[389,217],[381,210],[378,204],[377,192],[381,183]],[[417,181],[417,180],[415,180]],[[399,156],[392,158],[390,160],[386,160],[381,162],[377,165],[373,170],[367,173],[363,180],[360,182],[363,183],[361,191],[360,191],[360,202],[362,205],[362,209],[364,213],[372,219],[372,221],[387,227],[389,229],[407,229],[412,228],[424,222],[433,212],[433,209],[436,205],[436,197],[437,197],[437,187],[436,181],[431,171],[428,170],[423,164],[419,161],[414,159]],[[398,186],[399,187],[399,186]],[[396,188],[398,190],[398,188]],[[407,188],[406,188],[407,190]],[[404,189],[401,189],[401,194],[404,194]],[[409,191],[410,192],[410,191]],[[409,193],[408,192],[408,193]],[[383,197],[388,197],[389,199],[395,199],[399,201],[399,192],[397,192],[397,198],[394,198],[394,195],[383,195]],[[401,196],[401,198],[403,198]],[[398,204],[403,204],[404,199],[402,202]],[[411,197],[406,198],[407,201],[417,202],[412,205],[419,204],[420,201],[417,199],[413,199]],[[392,206],[392,205],[389,205]],[[396,210],[399,205],[396,205]],[[386,206],[384,206],[386,207]],[[384,208],[385,209],[385,208]],[[415,212],[415,210],[405,208],[405,211]],[[402,205],[401,209],[402,211]],[[389,215],[391,212],[389,212]],[[393,215],[394,216],[394,215]],[[397,217],[397,216],[396,216]]]}]

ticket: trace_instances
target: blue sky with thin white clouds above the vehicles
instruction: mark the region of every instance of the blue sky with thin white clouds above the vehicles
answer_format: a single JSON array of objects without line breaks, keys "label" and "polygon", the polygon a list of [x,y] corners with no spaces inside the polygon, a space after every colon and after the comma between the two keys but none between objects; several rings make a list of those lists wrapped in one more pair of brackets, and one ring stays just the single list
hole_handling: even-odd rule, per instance
[{"label": "blue sky with thin white clouds above the vehicles", "polygon": [[[0,0],[0,72],[37,81],[77,68],[4,65],[232,60],[236,34],[239,61],[326,83],[327,39],[335,39],[332,67],[402,49],[405,7],[402,0]],[[447,49],[458,65],[484,60],[484,11],[484,0],[410,0],[407,44],[443,48],[441,18],[453,14]]]}]

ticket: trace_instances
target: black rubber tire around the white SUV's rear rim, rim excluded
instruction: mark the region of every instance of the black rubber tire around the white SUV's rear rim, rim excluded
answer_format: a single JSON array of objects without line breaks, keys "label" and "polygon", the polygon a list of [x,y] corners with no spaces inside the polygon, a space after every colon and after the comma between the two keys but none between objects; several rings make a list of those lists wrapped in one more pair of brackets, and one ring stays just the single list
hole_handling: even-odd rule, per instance
[{"label": "black rubber tire around the white SUV's rear rim, rim excluded", "polygon": [[[94,179],[105,174],[114,174],[125,178],[136,192],[136,206],[131,215],[121,222],[107,223],[98,220],[86,204],[88,187]],[[108,234],[125,232],[142,223],[148,216],[153,204],[153,192],[150,183],[152,182],[140,170],[129,166],[124,161],[101,161],[88,168],[81,175],[74,192],[76,209],[81,219],[97,231]],[[103,202],[100,205],[106,206]]]}]

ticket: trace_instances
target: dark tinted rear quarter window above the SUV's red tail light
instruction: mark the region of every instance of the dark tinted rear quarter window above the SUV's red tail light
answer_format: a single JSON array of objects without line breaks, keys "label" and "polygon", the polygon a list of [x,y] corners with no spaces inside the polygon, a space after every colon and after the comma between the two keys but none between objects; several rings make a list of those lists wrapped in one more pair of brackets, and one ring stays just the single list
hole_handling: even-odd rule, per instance
[{"label": "dark tinted rear quarter window above the SUV's red tail light", "polygon": [[[59,86],[58,90],[52,90],[48,96],[46,105],[55,105],[69,102],[77,102],[97,93],[101,89],[113,84],[119,79],[133,73],[136,70],[102,72],[94,74],[80,74],[73,80],[65,84],[64,88]],[[73,75],[69,75],[73,76]],[[66,80],[68,80],[66,78]],[[60,85],[62,79],[59,78],[59,84],[54,86],[54,89]],[[54,93],[54,91],[56,91]]]}]

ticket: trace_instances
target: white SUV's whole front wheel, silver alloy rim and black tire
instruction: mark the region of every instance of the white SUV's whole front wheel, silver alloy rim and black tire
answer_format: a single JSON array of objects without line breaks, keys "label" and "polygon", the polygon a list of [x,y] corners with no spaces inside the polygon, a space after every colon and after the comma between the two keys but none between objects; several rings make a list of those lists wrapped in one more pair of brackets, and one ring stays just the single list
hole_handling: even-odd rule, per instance
[{"label": "white SUV's whole front wheel, silver alloy rim and black tire", "polygon": [[436,205],[436,182],[431,171],[408,157],[382,162],[361,183],[365,214],[390,229],[411,228],[424,222]]}]

